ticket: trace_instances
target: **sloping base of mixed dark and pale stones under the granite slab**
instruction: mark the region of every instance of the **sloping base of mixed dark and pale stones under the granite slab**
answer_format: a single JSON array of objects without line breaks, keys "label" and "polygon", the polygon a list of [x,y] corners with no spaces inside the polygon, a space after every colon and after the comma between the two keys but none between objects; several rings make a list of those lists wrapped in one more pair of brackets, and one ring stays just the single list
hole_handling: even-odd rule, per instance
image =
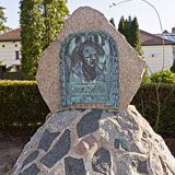
[{"label": "sloping base of mixed dark and pale stones under the granite slab", "polygon": [[163,139],[129,106],[126,112],[55,113],[25,145],[13,175],[175,175]]}]

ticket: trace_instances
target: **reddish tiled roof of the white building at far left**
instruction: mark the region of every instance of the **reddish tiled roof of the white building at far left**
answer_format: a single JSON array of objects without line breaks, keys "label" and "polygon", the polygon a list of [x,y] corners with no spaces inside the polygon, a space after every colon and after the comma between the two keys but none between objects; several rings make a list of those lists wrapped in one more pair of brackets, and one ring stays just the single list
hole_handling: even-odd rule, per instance
[{"label": "reddish tiled roof of the white building at far left", "polygon": [[21,40],[20,27],[0,34],[0,42],[16,42],[16,40]]}]

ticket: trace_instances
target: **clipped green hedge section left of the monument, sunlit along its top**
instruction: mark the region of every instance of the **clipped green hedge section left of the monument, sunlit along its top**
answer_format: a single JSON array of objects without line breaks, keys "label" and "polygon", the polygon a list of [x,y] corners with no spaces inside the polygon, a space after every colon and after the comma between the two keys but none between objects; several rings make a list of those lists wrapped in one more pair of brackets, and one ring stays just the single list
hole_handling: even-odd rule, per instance
[{"label": "clipped green hedge section left of the monument, sunlit along its top", "polygon": [[0,130],[31,132],[45,121],[49,109],[35,81],[0,81]]}]

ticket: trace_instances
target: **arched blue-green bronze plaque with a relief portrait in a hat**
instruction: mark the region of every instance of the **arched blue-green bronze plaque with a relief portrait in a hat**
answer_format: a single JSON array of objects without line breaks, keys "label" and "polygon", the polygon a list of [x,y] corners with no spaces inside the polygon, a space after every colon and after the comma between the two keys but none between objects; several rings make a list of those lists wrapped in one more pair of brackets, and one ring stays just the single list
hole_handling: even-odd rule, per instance
[{"label": "arched blue-green bronze plaque with a relief portrait in a hat", "polygon": [[98,30],[72,33],[60,48],[60,104],[118,106],[118,48]]}]

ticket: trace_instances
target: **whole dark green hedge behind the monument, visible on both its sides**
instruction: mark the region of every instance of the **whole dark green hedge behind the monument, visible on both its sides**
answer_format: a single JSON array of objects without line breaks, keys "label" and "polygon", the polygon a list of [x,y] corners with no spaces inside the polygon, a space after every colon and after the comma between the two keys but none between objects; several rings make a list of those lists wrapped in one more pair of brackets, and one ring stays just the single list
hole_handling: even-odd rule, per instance
[{"label": "whole dark green hedge behind the monument, visible on both its sides", "polygon": [[[175,84],[161,84],[159,97],[160,118],[155,84],[140,88],[131,104],[159,133],[175,137]],[[35,81],[0,81],[0,131],[14,132],[19,128],[31,132],[31,128],[45,121],[48,113]]]}]

